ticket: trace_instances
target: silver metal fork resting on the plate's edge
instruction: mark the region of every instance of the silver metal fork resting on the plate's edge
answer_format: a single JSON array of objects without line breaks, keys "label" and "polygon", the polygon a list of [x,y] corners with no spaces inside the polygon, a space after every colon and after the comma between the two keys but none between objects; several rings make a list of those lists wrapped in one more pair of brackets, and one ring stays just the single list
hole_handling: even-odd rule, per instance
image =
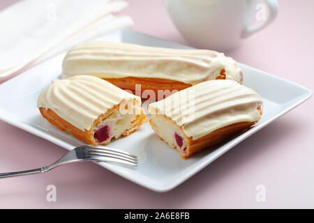
[{"label": "silver metal fork resting on the plate's edge", "polygon": [[66,153],[66,155],[61,157],[53,164],[38,169],[3,173],[0,174],[0,178],[45,173],[47,171],[50,171],[50,169],[53,169],[54,167],[59,167],[62,164],[82,161],[110,162],[127,167],[137,167],[137,156],[131,153],[126,153],[124,151],[119,151],[117,149],[107,147],[100,148],[93,146],[79,146]]}]

